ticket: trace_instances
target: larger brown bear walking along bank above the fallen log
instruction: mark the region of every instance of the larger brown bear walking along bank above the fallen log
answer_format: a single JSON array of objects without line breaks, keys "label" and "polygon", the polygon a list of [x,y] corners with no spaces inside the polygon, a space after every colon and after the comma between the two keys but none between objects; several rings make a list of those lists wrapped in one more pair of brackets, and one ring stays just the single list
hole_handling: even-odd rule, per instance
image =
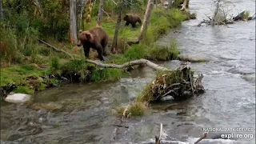
[{"label": "larger brown bear walking along bank above the fallen log", "polygon": [[96,26],[92,30],[80,31],[78,36],[78,46],[83,46],[86,58],[89,58],[90,48],[93,48],[97,50],[98,58],[104,61],[103,55],[106,56],[108,42],[109,37],[100,26]]}]

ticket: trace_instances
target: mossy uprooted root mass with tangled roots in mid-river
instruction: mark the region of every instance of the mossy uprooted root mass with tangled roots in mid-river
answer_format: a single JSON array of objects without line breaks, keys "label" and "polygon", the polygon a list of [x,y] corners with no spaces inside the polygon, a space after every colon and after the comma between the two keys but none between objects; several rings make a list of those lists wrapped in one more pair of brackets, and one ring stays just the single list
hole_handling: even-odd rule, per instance
[{"label": "mossy uprooted root mass with tangled roots in mid-river", "polygon": [[179,66],[176,70],[159,74],[144,90],[143,100],[155,102],[166,96],[171,96],[174,100],[182,100],[204,93],[203,75],[199,74],[196,79],[193,76],[194,72],[186,64]]}]

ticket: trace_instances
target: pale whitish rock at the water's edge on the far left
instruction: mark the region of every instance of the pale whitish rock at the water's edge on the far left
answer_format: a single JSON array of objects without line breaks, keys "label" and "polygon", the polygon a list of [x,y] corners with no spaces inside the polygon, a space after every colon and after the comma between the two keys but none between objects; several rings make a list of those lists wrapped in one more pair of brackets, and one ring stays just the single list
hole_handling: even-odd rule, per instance
[{"label": "pale whitish rock at the water's edge on the far left", "polygon": [[31,96],[29,94],[9,94],[5,98],[6,102],[23,103],[30,101]]}]

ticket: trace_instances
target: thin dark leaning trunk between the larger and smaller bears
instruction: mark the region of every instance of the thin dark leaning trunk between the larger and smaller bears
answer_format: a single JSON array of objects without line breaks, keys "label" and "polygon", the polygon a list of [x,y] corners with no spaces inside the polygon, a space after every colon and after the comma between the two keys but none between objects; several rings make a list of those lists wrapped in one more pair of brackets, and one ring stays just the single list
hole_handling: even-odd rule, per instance
[{"label": "thin dark leaning trunk between the larger and smaller bears", "polygon": [[119,6],[119,11],[118,11],[118,19],[117,19],[117,24],[115,26],[114,30],[114,38],[111,46],[111,52],[114,54],[116,52],[116,48],[118,46],[118,32],[120,29],[121,21],[122,21],[122,9],[124,6],[124,0],[121,1],[121,6]]}]

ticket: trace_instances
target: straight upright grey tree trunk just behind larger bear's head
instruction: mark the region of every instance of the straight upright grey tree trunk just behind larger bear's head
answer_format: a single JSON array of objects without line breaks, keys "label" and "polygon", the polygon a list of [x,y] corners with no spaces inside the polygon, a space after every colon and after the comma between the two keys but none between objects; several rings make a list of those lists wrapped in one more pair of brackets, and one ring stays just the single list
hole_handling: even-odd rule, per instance
[{"label": "straight upright grey tree trunk just behind larger bear's head", "polygon": [[74,44],[78,42],[76,19],[76,0],[70,0],[70,42]]}]

